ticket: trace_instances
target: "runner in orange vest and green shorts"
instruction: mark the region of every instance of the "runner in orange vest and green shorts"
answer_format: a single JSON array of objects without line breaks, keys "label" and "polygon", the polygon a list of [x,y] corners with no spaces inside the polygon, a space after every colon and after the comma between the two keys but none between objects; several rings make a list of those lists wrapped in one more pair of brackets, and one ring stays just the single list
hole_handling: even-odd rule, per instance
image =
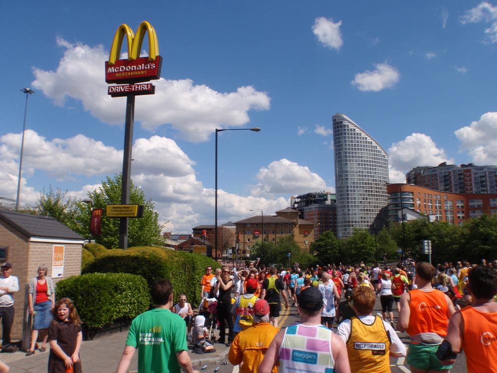
[{"label": "runner in orange vest and green shorts", "polygon": [[447,334],[448,320],[455,311],[449,297],[431,287],[434,275],[435,268],[431,264],[418,263],[418,288],[400,297],[401,310],[397,330],[407,331],[411,338],[407,363],[413,373],[448,371],[452,367],[443,365],[435,356],[438,346]]}]

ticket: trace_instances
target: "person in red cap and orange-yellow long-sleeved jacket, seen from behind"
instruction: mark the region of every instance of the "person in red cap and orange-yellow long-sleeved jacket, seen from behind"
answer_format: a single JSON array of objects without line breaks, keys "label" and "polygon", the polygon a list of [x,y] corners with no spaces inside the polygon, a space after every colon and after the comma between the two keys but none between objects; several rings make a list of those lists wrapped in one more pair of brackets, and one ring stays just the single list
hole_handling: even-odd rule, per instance
[{"label": "person in red cap and orange-yellow long-sleeved jacket, seen from behind", "polygon": [[[228,359],[233,365],[240,364],[240,373],[256,373],[279,329],[269,323],[269,304],[258,299],[252,308],[254,323],[240,331],[229,348]],[[278,368],[273,368],[278,373]]]}]

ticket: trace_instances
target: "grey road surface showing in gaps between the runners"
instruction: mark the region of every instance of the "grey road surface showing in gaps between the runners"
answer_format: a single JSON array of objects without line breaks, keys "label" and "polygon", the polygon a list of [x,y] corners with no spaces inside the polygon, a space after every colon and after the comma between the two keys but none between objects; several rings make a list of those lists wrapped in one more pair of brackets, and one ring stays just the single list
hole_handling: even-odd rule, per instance
[{"label": "grey road surface showing in gaps between the runners", "polygon": [[[284,315],[280,319],[280,328],[286,327],[296,321],[299,320],[299,315],[297,314],[297,308],[296,307],[290,307],[289,311],[286,311],[284,309]],[[380,298],[376,298],[376,303],[374,307],[373,314],[379,314],[381,316],[381,305],[380,305]],[[395,319],[397,319],[397,312],[394,311],[394,316]],[[282,322],[283,321],[283,322]],[[398,332],[400,340],[407,346],[409,343],[409,337],[406,333],[400,333]],[[227,357],[227,356],[226,356]],[[221,361],[223,359],[219,359],[217,361]],[[224,358],[224,360],[227,360],[227,358]],[[229,362],[227,365],[221,365],[215,362],[212,363],[207,363],[207,368],[205,370],[202,370],[202,373],[212,373],[215,369],[216,366],[219,366],[218,373],[238,373],[238,366],[233,366]],[[199,368],[198,366],[197,368]],[[409,373],[409,365],[405,361],[404,357],[390,357],[390,368],[392,370],[392,373]],[[459,354],[457,357],[457,360],[455,364],[453,365],[453,368],[450,370],[451,373],[466,373],[466,358],[464,356],[464,353]]]}]

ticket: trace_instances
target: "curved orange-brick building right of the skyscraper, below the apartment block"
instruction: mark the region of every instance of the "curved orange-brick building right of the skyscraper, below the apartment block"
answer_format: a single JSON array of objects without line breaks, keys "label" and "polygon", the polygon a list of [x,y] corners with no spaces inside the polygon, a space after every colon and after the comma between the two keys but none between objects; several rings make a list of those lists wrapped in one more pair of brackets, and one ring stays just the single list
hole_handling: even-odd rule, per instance
[{"label": "curved orange-brick building right of the skyscraper, below the apartment block", "polygon": [[[458,225],[469,218],[497,213],[497,194],[447,193],[401,183],[389,184],[387,193],[388,218],[391,222],[401,221],[399,214],[401,209],[411,209],[425,216],[431,216],[432,221]],[[404,221],[406,220],[404,217]]]}]

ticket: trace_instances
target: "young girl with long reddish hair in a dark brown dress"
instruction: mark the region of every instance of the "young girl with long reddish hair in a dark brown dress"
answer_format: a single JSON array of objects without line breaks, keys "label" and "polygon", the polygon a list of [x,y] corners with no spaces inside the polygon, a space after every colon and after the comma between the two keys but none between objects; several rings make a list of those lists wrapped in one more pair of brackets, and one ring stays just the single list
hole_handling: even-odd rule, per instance
[{"label": "young girl with long reddish hair in a dark brown dress", "polygon": [[74,303],[69,298],[62,298],[55,303],[54,320],[50,322],[50,356],[49,373],[65,373],[73,368],[74,373],[82,373],[79,349],[83,340],[81,319]]}]

